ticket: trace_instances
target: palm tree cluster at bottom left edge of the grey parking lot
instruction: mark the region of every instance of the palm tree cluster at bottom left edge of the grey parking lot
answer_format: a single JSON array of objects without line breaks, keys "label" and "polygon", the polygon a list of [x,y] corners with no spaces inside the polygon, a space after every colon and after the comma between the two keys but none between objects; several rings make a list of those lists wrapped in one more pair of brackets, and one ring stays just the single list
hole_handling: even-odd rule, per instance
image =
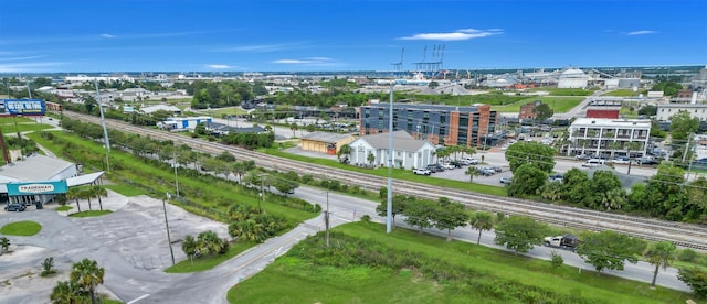
[{"label": "palm tree cluster at bottom left edge of the grey parking lot", "polygon": [[56,283],[50,300],[55,304],[98,303],[96,287],[103,284],[105,269],[94,260],[83,259],[75,263],[68,274],[68,281]]}]

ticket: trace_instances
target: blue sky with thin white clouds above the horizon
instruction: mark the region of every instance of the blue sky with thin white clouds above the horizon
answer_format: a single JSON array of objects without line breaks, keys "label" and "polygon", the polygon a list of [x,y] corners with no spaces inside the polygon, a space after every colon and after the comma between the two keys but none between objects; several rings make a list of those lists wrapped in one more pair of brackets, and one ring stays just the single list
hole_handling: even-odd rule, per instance
[{"label": "blue sky with thin white clouds above the horizon", "polygon": [[403,47],[404,69],[442,56],[450,69],[705,65],[707,1],[0,6],[0,73],[390,70]]}]

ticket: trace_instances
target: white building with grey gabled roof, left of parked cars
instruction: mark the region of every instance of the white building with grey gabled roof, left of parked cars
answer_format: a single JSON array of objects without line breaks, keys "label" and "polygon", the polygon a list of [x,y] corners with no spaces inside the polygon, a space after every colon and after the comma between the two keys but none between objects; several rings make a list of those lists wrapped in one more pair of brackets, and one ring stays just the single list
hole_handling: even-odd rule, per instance
[{"label": "white building with grey gabled roof, left of parked cars", "polygon": [[[388,133],[361,137],[349,143],[352,165],[388,166]],[[415,140],[405,131],[393,132],[393,167],[407,170],[426,167],[434,163],[434,144],[426,140]],[[372,161],[369,161],[372,154]]]}]

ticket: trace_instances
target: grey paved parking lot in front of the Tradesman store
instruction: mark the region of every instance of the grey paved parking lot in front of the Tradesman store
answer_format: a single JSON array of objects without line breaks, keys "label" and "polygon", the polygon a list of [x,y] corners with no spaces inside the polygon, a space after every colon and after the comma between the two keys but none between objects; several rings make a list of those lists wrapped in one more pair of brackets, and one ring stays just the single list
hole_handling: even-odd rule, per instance
[{"label": "grey paved parking lot in front of the Tradesman store", "polygon": [[[114,213],[89,218],[67,217],[74,209],[56,211],[56,205],[45,205],[38,210],[34,206],[24,211],[0,210],[0,227],[19,220],[32,220],[42,225],[42,230],[31,237],[6,236],[10,239],[12,252],[0,256],[0,303],[48,303],[49,295],[57,281],[68,279],[71,265],[88,258],[105,268],[106,287],[112,291],[143,290],[146,293],[157,285],[170,284],[178,278],[161,270],[171,265],[171,256],[165,229],[162,202],[147,196],[125,197],[108,191],[103,198],[104,209]],[[87,210],[88,203],[80,202],[81,209]],[[92,202],[93,209],[98,208]],[[225,224],[217,222],[190,214],[167,204],[169,228],[177,261],[186,259],[179,240],[186,235],[196,236],[213,230],[220,237],[228,237]],[[42,262],[53,257],[59,274],[41,278]],[[134,279],[152,284],[135,285]],[[99,292],[106,293],[105,287]]]}]

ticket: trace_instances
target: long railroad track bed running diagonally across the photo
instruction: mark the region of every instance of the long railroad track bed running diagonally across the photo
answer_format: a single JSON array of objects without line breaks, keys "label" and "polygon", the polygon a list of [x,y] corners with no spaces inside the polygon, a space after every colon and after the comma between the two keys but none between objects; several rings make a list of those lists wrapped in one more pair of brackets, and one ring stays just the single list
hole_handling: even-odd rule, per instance
[{"label": "long railroad track bed running diagonally across the photo", "polygon": [[[81,119],[82,121],[101,123],[101,120],[96,117],[74,112],[64,112],[64,115]],[[171,132],[141,128],[114,120],[106,120],[106,124],[116,130],[149,135],[159,140],[171,140],[211,154],[219,154],[223,151],[228,151],[238,160],[252,160],[258,166],[270,167],[277,171],[294,171],[300,174],[312,174],[314,176],[337,180],[346,184],[358,185],[360,187],[372,189],[387,185],[387,178],[380,176],[293,161],[236,146],[192,139]],[[468,191],[444,188],[398,180],[393,181],[393,189],[395,193],[431,199],[437,199],[439,197],[445,196],[477,210],[504,213],[507,215],[524,215],[552,225],[577,227],[595,231],[610,229],[647,240],[669,240],[682,247],[707,251],[707,227],[700,225],[688,225],[683,222],[602,213],[518,198],[497,197]]]}]

